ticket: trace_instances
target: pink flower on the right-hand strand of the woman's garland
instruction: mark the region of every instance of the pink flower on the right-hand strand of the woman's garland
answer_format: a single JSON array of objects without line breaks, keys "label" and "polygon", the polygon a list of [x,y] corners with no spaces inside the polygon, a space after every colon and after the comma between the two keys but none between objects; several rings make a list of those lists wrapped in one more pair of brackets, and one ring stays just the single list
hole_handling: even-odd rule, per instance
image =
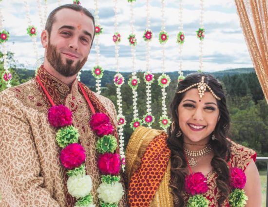
[{"label": "pink flower on the right-hand strand of the woman's garland", "polygon": [[243,170],[240,168],[232,168],[230,173],[230,186],[233,188],[243,189],[247,182],[245,172],[243,172]]}]

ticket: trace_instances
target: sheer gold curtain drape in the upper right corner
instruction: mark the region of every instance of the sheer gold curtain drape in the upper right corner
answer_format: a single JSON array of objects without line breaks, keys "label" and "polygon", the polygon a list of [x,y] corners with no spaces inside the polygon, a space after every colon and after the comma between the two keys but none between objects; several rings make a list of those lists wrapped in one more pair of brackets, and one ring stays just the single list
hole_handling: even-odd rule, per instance
[{"label": "sheer gold curtain drape in the upper right corner", "polygon": [[268,102],[267,0],[234,0],[256,74]]}]

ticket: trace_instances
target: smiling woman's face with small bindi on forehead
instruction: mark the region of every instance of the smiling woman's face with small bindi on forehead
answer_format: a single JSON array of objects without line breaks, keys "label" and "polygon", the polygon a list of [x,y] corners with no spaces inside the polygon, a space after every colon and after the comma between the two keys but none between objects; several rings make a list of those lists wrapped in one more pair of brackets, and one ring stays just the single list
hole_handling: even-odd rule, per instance
[{"label": "smiling woman's face with small bindi on forehead", "polygon": [[217,101],[210,92],[200,98],[198,90],[191,89],[178,106],[178,117],[185,142],[208,143],[219,118]]}]

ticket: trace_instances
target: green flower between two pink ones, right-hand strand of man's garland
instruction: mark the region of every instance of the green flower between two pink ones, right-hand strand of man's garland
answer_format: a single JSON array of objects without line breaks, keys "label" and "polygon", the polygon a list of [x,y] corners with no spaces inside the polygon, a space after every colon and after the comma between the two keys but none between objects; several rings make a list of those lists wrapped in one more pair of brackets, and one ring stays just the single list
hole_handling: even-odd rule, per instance
[{"label": "green flower between two pink ones, right-hand strand of man's garland", "polygon": [[117,140],[111,134],[104,135],[102,138],[98,139],[96,147],[97,151],[100,153],[114,152],[117,148]]}]

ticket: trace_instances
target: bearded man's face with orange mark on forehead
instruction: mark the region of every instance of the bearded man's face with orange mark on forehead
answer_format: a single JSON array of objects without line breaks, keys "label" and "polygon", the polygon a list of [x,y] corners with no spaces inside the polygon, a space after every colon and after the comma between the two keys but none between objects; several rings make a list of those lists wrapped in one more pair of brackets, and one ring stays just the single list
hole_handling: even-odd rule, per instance
[{"label": "bearded man's face with orange mark on forehead", "polygon": [[91,49],[93,21],[72,9],[59,10],[55,18],[46,47],[47,61],[61,75],[76,75]]}]

